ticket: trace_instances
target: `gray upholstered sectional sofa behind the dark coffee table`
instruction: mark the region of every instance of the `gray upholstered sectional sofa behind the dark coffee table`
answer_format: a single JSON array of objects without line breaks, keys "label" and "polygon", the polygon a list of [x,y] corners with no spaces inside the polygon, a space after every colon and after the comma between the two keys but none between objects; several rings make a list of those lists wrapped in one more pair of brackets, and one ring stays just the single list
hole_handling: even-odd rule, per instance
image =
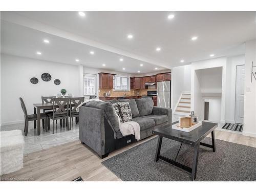
[{"label": "gray upholstered sectional sofa behind the dark coffee table", "polygon": [[90,101],[79,109],[79,139],[99,157],[136,142],[134,135],[122,136],[112,103],[129,102],[132,121],[140,125],[140,140],[152,135],[154,127],[172,123],[172,110],[154,106],[150,97]]}]

